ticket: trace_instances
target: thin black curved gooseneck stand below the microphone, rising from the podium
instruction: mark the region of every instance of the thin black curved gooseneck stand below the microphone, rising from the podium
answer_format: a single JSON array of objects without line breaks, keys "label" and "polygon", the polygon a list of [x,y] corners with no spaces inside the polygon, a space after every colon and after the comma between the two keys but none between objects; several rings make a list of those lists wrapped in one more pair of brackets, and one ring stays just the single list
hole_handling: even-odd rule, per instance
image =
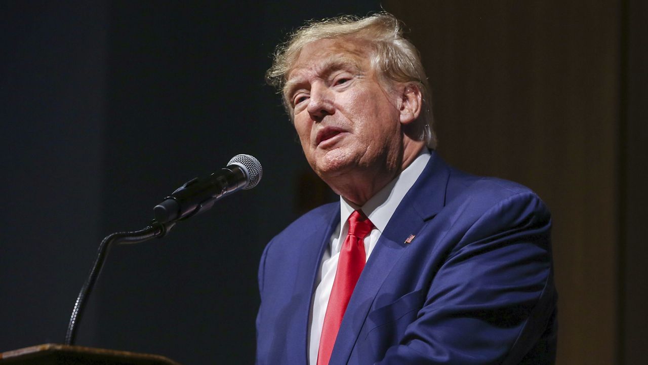
[{"label": "thin black curved gooseneck stand below the microphone, rising from the podium", "polygon": [[99,244],[99,249],[97,252],[97,259],[90,270],[90,274],[87,277],[86,282],[81,291],[79,292],[78,297],[76,297],[75,308],[72,311],[70,316],[70,323],[67,325],[67,333],[65,334],[65,344],[73,345],[75,342],[76,329],[78,324],[81,321],[84,308],[86,307],[86,298],[92,292],[92,288],[95,286],[97,277],[101,272],[101,268],[106,261],[106,256],[108,255],[108,250],[113,244],[119,243],[139,243],[148,241],[153,238],[162,238],[168,231],[173,228],[176,222],[167,222],[160,223],[157,220],[153,220],[150,226],[146,227],[140,231],[132,232],[117,232],[111,235],[106,236],[103,241]]}]

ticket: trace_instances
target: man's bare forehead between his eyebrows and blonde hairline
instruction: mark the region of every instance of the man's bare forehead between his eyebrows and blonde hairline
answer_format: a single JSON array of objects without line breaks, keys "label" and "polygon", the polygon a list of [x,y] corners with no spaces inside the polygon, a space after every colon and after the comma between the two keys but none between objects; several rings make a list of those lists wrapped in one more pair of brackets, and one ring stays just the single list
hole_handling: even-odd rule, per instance
[{"label": "man's bare forehead between his eyebrows and blonde hairline", "polygon": [[356,40],[338,38],[308,43],[288,71],[284,90],[288,90],[294,82],[299,82],[298,79],[320,75],[332,69],[354,68],[368,71],[371,64],[369,54],[369,47]]}]

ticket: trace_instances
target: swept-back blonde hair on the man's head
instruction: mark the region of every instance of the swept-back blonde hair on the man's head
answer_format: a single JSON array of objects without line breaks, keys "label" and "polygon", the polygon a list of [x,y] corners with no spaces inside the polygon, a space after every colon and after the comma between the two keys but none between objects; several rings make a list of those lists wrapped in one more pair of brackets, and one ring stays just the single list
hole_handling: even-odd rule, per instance
[{"label": "swept-back blonde hair on the man's head", "polygon": [[[429,148],[434,149],[437,138],[432,129],[434,118],[430,103],[430,87],[421,56],[414,45],[403,38],[400,22],[393,15],[381,12],[365,18],[340,16],[337,18],[309,21],[290,34],[288,41],[279,45],[274,54],[272,67],[266,72],[266,82],[283,94],[286,77],[308,43],[323,39],[351,38],[365,41],[371,47],[371,65],[383,81],[415,84],[422,96],[419,121],[422,135]],[[292,108],[285,96],[282,98],[286,112],[292,119]]]}]

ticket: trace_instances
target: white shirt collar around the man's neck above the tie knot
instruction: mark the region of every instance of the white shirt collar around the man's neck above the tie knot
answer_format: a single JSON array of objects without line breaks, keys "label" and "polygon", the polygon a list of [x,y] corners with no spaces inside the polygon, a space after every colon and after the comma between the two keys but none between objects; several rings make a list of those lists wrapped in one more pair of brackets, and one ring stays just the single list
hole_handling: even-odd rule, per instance
[{"label": "white shirt collar around the man's neck above the tie knot", "polygon": [[358,207],[340,196],[340,227],[344,227],[347,220],[356,209],[362,209],[373,225],[382,233],[387,227],[389,219],[396,211],[400,201],[421,175],[430,160],[430,150],[422,148],[419,156],[410,163],[394,180],[380,189],[364,206]]}]

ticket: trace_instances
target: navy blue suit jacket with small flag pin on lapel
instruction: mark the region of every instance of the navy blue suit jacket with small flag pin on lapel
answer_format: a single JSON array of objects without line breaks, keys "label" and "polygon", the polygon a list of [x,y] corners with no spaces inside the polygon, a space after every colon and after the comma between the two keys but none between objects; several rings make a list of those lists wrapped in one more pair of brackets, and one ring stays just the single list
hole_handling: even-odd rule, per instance
[{"label": "navy blue suit jacket with small flag pin on lapel", "polygon": [[[307,364],[312,293],[339,221],[339,202],[321,206],[266,246],[257,364]],[[330,365],[553,364],[550,226],[526,187],[432,152],[367,261]]]}]

